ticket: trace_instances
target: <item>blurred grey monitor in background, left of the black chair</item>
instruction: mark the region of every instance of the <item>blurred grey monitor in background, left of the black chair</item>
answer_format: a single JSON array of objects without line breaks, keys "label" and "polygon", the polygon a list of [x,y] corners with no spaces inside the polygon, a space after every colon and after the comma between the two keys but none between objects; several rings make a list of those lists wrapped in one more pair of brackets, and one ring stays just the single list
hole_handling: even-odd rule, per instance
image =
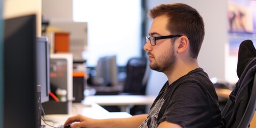
[{"label": "blurred grey monitor in background, left of the black chair", "polygon": [[93,78],[94,85],[116,86],[118,84],[116,55],[99,58],[95,71],[96,75]]}]

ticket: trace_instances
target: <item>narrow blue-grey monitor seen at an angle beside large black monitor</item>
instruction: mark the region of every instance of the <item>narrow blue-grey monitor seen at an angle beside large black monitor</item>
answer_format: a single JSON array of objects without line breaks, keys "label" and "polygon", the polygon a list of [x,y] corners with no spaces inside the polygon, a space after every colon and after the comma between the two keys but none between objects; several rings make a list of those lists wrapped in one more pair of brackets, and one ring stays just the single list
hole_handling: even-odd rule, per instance
[{"label": "narrow blue-grey monitor seen at an angle beside large black monitor", "polygon": [[46,37],[37,37],[37,85],[41,85],[41,103],[49,101],[50,92],[50,43]]}]

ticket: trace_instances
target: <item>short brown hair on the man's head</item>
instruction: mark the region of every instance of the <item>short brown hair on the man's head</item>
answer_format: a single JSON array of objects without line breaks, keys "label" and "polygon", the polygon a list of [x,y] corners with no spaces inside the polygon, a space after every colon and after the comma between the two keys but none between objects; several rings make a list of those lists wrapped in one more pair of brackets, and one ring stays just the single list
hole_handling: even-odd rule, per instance
[{"label": "short brown hair on the man's head", "polygon": [[148,12],[150,18],[166,15],[167,29],[171,34],[182,34],[189,38],[190,56],[197,58],[204,40],[204,21],[191,6],[182,3],[161,4]]}]

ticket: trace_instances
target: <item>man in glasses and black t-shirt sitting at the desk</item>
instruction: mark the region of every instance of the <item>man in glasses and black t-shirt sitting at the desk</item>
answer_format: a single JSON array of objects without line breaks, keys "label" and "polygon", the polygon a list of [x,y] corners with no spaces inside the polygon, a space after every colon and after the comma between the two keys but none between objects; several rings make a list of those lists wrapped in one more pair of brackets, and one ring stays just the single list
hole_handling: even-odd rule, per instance
[{"label": "man in glasses and black t-shirt sitting at the desk", "polygon": [[159,5],[144,50],[150,68],[163,72],[168,81],[146,115],[122,119],[92,119],[77,115],[71,127],[223,127],[218,97],[197,56],[204,38],[204,22],[186,4]]}]

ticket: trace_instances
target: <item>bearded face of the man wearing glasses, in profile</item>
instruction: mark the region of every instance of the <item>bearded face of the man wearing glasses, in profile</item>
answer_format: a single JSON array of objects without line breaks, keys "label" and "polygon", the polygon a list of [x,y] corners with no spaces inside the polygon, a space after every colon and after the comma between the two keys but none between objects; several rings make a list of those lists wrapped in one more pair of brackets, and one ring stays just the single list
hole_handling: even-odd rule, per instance
[{"label": "bearded face of the man wearing glasses, in profile", "polygon": [[[149,36],[171,35],[166,29],[167,18],[165,16],[156,17],[149,30]],[[151,46],[148,41],[144,45],[144,50],[148,52],[150,68],[156,71],[171,71],[174,68],[176,57],[174,54],[174,45],[170,38],[156,40],[156,45]]]}]

